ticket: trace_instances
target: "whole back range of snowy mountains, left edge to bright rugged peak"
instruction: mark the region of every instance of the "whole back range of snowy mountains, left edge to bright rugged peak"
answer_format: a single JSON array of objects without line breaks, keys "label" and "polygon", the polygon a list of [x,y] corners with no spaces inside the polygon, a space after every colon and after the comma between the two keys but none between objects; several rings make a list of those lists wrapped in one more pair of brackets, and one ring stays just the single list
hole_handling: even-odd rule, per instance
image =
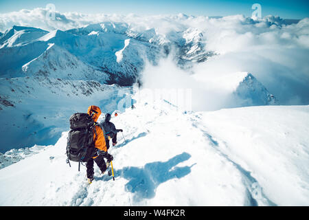
[{"label": "whole back range of snowy mountains, left edge to bright rugged peak", "polygon": [[[126,61],[118,65],[118,58],[113,54],[113,51],[119,51],[124,48],[121,41],[124,43],[128,37],[135,39],[135,41],[131,41],[134,46],[127,49],[128,53],[133,54],[133,56],[126,57]],[[113,41],[111,41],[112,39]],[[130,27],[127,23],[112,22],[91,24],[84,28],[76,28],[65,32],[61,30],[47,32],[37,28],[14,26],[1,37],[0,48],[3,48],[7,54],[10,53],[15,57],[19,57],[19,54],[8,50],[8,48],[5,49],[5,47],[23,46],[32,43],[31,47],[40,52],[32,53],[28,50],[30,60],[27,62],[29,62],[36,58],[38,54],[43,53],[44,49],[37,48],[43,45],[42,41],[46,42],[46,44],[55,43],[62,47],[62,49],[78,56],[82,61],[86,61],[97,68],[103,68],[103,71],[113,75],[122,75],[128,78],[128,80],[138,76],[145,58],[148,58],[150,62],[156,63],[157,57],[161,56],[161,50],[164,50],[165,53],[170,53],[173,45],[178,48],[180,61],[201,62],[207,60],[207,57],[214,55],[213,52],[205,52],[203,34],[197,29],[186,28],[182,32],[174,31],[164,35],[157,33],[154,28],[140,30],[139,28]],[[18,48],[18,50],[22,49]],[[104,50],[104,56],[100,55],[102,50]],[[17,60],[19,59],[21,58],[17,58]],[[4,73],[19,68],[14,60],[8,60],[7,63],[8,68],[2,69]],[[116,81],[115,83],[119,82]],[[123,82],[121,81],[121,83]]]}]

